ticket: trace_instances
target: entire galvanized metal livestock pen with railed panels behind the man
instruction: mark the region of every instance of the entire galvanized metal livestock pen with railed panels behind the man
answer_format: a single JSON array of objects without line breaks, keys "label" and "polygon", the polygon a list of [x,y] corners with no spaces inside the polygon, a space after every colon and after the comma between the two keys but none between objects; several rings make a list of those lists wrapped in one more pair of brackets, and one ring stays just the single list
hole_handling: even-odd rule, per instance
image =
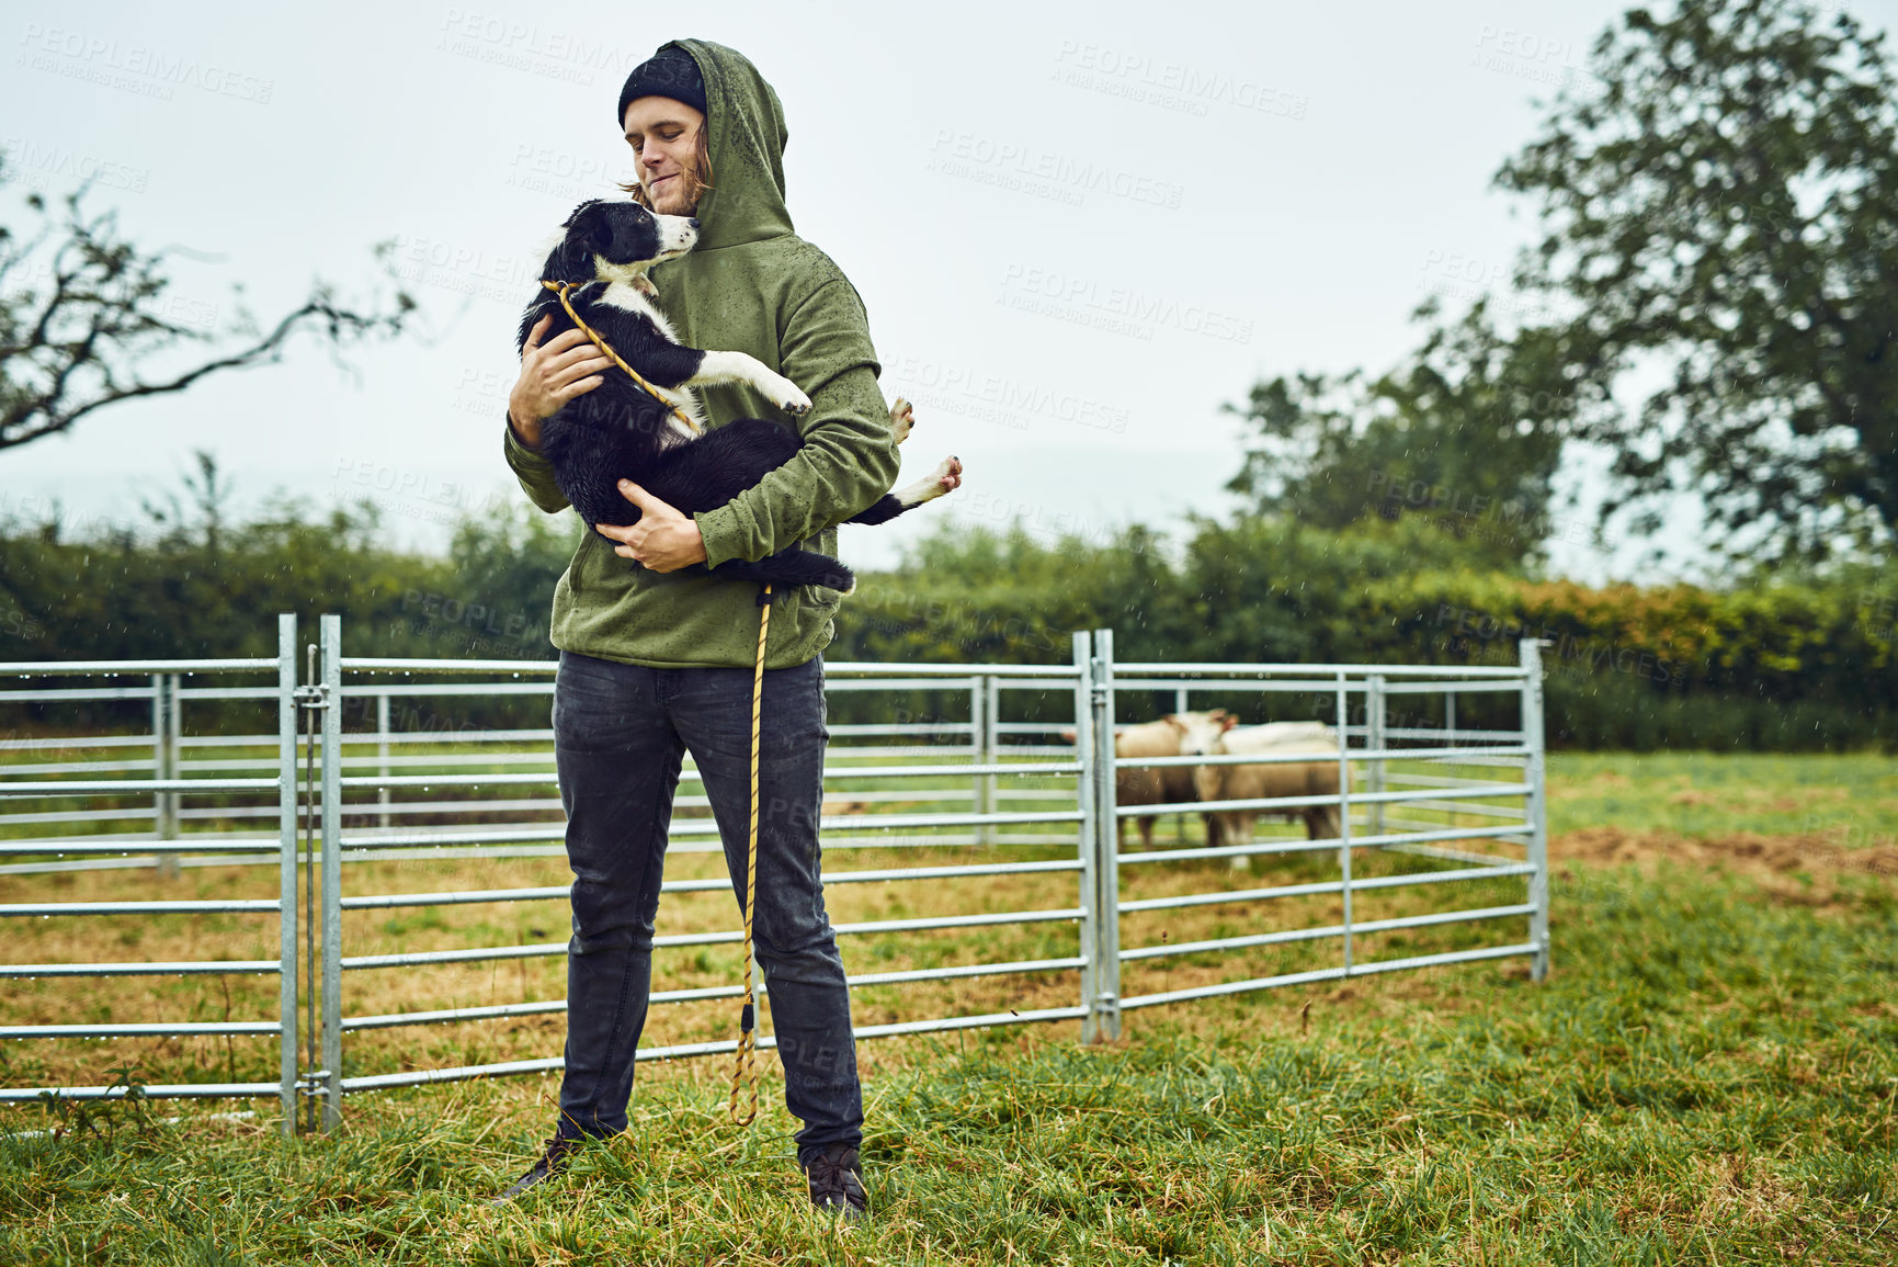
[{"label": "entire galvanized metal livestock pen with railed panels behind the man", "polygon": [[[349,1033],[399,1026],[448,1026],[469,1020],[533,1016],[564,1011],[560,1001],[516,1001],[486,1007],[446,1007],[349,1014],[345,980],[376,971],[427,969],[469,961],[558,957],[564,940],[514,946],[463,946],[408,954],[349,955],[344,940],[344,914],[465,902],[533,902],[564,898],[566,887],[516,887],[444,893],[351,893],[344,862],[404,857],[503,859],[522,855],[562,855],[558,821],[495,824],[482,821],[495,805],[509,811],[558,809],[558,802],[539,800],[456,800],[478,788],[552,786],[550,754],[520,752],[507,760],[537,769],[501,769],[492,748],[495,741],[550,745],[550,731],[476,731],[442,735],[391,728],[391,703],[444,697],[492,697],[503,693],[550,695],[550,661],[478,659],[389,659],[345,657],[342,621],[321,617],[315,646],[298,680],[296,621],[277,621],[275,659],[201,661],[112,661],[0,665],[0,705],[84,699],[150,699],[148,735],[87,737],[85,748],[116,750],[123,756],[93,760],[32,760],[40,739],[0,741],[0,811],[28,805],[27,811],[0,813],[0,874],[47,874],[101,866],[148,866],[159,881],[182,866],[270,864],[279,872],[277,898],[230,900],[112,900],[112,902],[15,902],[0,906],[0,929],[9,919],[159,916],[159,914],[245,914],[275,917],[277,959],[205,959],[165,963],[4,963],[0,978],[87,978],[127,974],[266,973],[279,980],[277,1014],[224,1022],[108,1022],[108,1024],[0,1024],[0,1039],[123,1039],[140,1035],[275,1035],[279,1079],[273,1083],[175,1083],[148,1087],[150,1096],[243,1098],[275,1096],[285,1130],[294,1130],[300,1106],[321,1109],[321,1121],[334,1125],[345,1094],[418,1083],[545,1073],[560,1068],[558,1056],[488,1064],[457,1064],[427,1069],[370,1071],[347,1075],[345,1041]],[[38,680],[61,682],[42,686]],[[72,680],[85,680],[72,686]],[[258,680],[264,678],[264,680]],[[273,680],[271,680],[273,678]],[[905,1016],[886,1024],[860,1024],[858,1037],[924,1033],[958,1028],[1080,1020],[1084,1041],[1120,1035],[1122,1014],[1129,1009],[1234,995],[1275,986],[1336,980],[1370,973],[1433,967],[1473,959],[1526,955],[1541,978],[1549,961],[1549,885],[1547,828],[1543,807],[1543,735],[1539,644],[1522,642],[1522,659],[1513,667],[1416,667],[1416,665],[1186,665],[1116,663],[1112,633],[1080,633],[1072,640],[1067,665],[826,665],[829,691],[919,691],[964,693],[966,718],[892,716],[890,722],[833,726],[826,788],[833,783],[856,785],[841,813],[822,819],[826,885],[854,883],[953,883],[1002,876],[1070,876],[1070,900],[1027,910],[981,910],[915,919],[875,919],[839,923],[837,933],[892,935],[940,929],[968,931],[976,950],[981,931],[1025,925],[1063,925],[1074,929],[1074,954],[1029,959],[985,959],[979,954],[947,967],[856,973],[852,988],[896,982],[943,982],[972,976],[1074,978],[1074,999],[1059,1007],[1025,1007],[1002,1012]],[[1050,691],[1069,699],[1061,716],[1050,716]],[[1012,701],[1034,693],[1044,705],[1036,718],[1004,720]],[[1327,796],[1275,796],[1232,802],[1182,802],[1167,805],[1118,805],[1116,769],[1131,766],[1262,766],[1274,760],[1258,754],[1116,758],[1116,701],[1122,697],[1167,697],[1186,710],[1192,697],[1230,699],[1251,693],[1266,701],[1272,693],[1310,701],[1329,695],[1327,720],[1340,737],[1338,790]],[[1515,728],[1473,729],[1458,724],[1458,697],[1505,693],[1520,701]],[[1414,724],[1414,716],[1391,724],[1393,699],[1442,697],[1442,720]],[[180,712],[194,699],[256,701],[273,712],[275,733],[190,735]],[[344,729],[344,712],[357,709],[370,716],[374,731]],[[1264,705],[1260,705],[1262,709]],[[1017,710],[1019,712],[1019,710]],[[1412,722],[1412,724],[1403,724]],[[1072,741],[1063,731],[1072,731]],[[909,743],[890,743],[890,741]],[[273,741],[273,743],[271,743]],[[357,748],[345,754],[347,747]],[[399,748],[425,743],[427,754],[406,756]],[[374,745],[374,752],[361,748]],[[467,754],[444,752],[454,745]],[[484,750],[484,745],[488,748]],[[194,760],[190,752],[220,756]],[[146,756],[150,752],[150,756]],[[25,754],[25,760],[19,756]],[[1310,758],[1306,758],[1310,760]],[[456,766],[467,767],[457,773]],[[427,773],[402,773],[404,767]],[[1367,777],[1357,786],[1357,767]],[[1429,773],[1444,767],[1490,766],[1498,777],[1448,777]],[[241,773],[239,773],[241,771]],[[353,773],[359,771],[359,773]],[[97,777],[110,775],[110,777]],[[691,783],[695,771],[687,767]],[[919,796],[917,785],[926,783]],[[869,785],[869,786],[864,786]],[[450,823],[399,823],[416,817],[414,802],[391,802],[391,790],[440,790],[446,800],[427,802],[433,819]],[[886,790],[879,790],[886,788]],[[829,792],[826,792],[829,796]],[[140,798],[139,805],[101,802]],[[205,800],[216,802],[205,807]],[[879,802],[953,805],[966,798],[966,809],[938,807],[922,813],[877,813]],[[199,802],[194,805],[192,802]],[[697,802],[697,804],[695,804]],[[1207,809],[1296,811],[1313,802],[1336,804],[1336,838],[1207,843],[1205,847],[1120,849],[1120,826],[1129,817],[1165,813],[1203,813]],[[1520,802],[1520,804],[1505,804]],[[1010,804],[1019,807],[1008,807]],[[702,805],[702,798],[681,798],[679,805]],[[1437,819],[1399,817],[1439,815]],[[195,815],[195,817],[194,817]],[[456,817],[471,819],[467,823]],[[1492,817],[1490,824],[1458,823],[1458,817]],[[345,817],[363,826],[345,828]],[[190,830],[197,819],[241,823],[262,819],[270,830],[237,828]],[[131,824],[129,830],[125,824]],[[106,828],[76,832],[78,828]],[[672,823],[674,853],[717,849],[716,824],[706,817],[678,815]],[[837,866],[852,849],[890,847],[977,847],[976,862],[953,866]],[[1456,847],[1452,847],[1456,845]],[[1505,853],[1484,851],[1484,845]],[[1053,857],[1015,859],[1014,851]],[[1334,876],[1300,883],[1232,889],[1230,879],[1213,883],[1205,859],[1253,857],[1332,859]],[[1395,859],[1397,870],[1353,874],[1370,859]],[[15,860],[17,859],[17,860]],[[1408,870],[1405,870],[1408,868]],[[1154,876],[1169,876],[1179,889],[1154,897],[1131,897]],[[1363,917],[1357,904],[1378,900],[1424,885],[1458,881],[1513,879],[1522,898],[1473,908],[1408,912]],[[723,878],[668,879],[662,893],[698,893],[725,887]],[[1173,940],[1165,929],[1158,936],[1148,927],[1162,912],[1196,912],[1219,906],[1258,910],[1264,904],[1332,902],[1342,919],[1300,923],[1224,936]],[[1450,923],[1480,925],[1520,919],[1515,940],[1467,946],[1422,955],[1361,954],[1367,940],[1405,931]],[[659,946],[735,944],[735,929],[662,935]],[[1315,946],[1336,942],[1334,961],[1298,971],[1217,980],[1186,988],[1124,990],[1129,974],[1165,973],[1181,961],[1203,963],[1209,955],[1239,954],[1262,946]],[[11,955],[0,955],[11,959]],[[848,959],[848,955],[847,955]],[[1219,969],[1205,969],[1219,973]],[[769,982],[767,982],[769,990]],[[687,1003],[736,997],[738,986],[698,990],[655,990],[653,1003]],[[311,1041],[315,1039],[315,1043]],[[733,1049],[733,1041],[674,1043],[643,1047],[642,1060],[714,1054]],[[761,1047],[772,1047],[765,1037]],[[68,1098],[123,1094],[121,1087],[0,1087],[0,1102],[28,1102],[47,1090]]]}]

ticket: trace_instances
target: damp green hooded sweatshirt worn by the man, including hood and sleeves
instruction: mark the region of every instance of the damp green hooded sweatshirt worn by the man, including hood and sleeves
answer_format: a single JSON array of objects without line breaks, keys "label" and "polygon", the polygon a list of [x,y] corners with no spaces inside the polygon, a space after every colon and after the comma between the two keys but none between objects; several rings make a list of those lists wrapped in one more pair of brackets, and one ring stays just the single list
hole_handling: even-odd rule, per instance
[{"label": "damp green hooded sweatshirt worn by the man, including hood and sleeves", "polygon": [[[706,84],[712,186],[698,196],[698,245],[651,272],[659,308],[693,348],[748,351],[810,397],[795,424],[744,386],[702,388],[712,427],[735,418],[795,425],[803,450],[716,511],[695,515],[706,564],[759,560],[805,543],[837,553],[835,524],[881,498],[902,460],[877,386],[864,300],[835,262],[791,232],[784,209],[784,106],[744,55],[676,40]],[[670,47],[670,46],[668,46]],[[617,372],[617,370],[607,370]],[[552,463],[507,431],[507,463],[543,511],[566,509]],[[626,522],[634,519],[626,503]],[[554,587],[550,638],[564,652],[655,669],[746,667],[757,657],[757,585],[702,568],[651,572],[581,536]],[[769,669],[822,652],[841,595],[801,587],[772,602]]]}]

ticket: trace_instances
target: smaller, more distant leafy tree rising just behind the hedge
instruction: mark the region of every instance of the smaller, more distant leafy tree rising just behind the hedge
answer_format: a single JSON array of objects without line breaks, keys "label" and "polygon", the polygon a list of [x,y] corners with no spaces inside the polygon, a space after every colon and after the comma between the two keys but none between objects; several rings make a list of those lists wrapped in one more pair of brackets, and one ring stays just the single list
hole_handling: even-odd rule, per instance
[{"label": "smaller, more distant leafy tree rising just behind the hedge", "polygon": [[1226,410],[1253,429],[1226,484],[1253,513],[1330,530],[1424,517],[1490,566],[1537,558],[1549,536],[1568,397],[1547,348],[1505,340],[1482,302],[1380,378],[1279,376]]}]

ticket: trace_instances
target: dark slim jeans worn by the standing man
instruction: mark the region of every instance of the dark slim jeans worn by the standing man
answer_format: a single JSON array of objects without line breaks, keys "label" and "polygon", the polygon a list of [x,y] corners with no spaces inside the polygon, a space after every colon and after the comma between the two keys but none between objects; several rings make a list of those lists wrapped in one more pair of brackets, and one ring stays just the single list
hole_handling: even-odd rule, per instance
[{"label": "dark slim jeans worn by the standing man", "polygon": [[[771,986],[797,1157],[862,1142],[850,992],[824,914],[824,661],[765,672],[752,936]],[[752,671],[640,669],[562,652],[554,756],[568,811],[573,938],[560,1132],[626,1128],[632,1060],[653,980],[653,916],[683,752],[704,777],[744,910],[752,805]],[[736,1007],[733,1024],[736,1026]]]}]

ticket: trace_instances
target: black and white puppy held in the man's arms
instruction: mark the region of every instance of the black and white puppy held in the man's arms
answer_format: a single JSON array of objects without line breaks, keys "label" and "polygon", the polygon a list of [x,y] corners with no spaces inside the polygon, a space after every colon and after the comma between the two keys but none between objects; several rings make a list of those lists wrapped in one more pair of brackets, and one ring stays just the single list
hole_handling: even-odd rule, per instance
[{"label": "black and white puppy held in the man's arms", "polygon": [[[767,473],[790,462],[803,446],[797,431],[767,418],[740,418],[695,435],[668,405],[693,425],[704,414],[691,388],[740,382],[755,388],[788,414],[803,414],[810,399],[797,384],[772,372],[744,351],[700,351],[678,342],[653,304],[645,270],[672,260],[698,241],[698,220],[657,215],[634,201],[581,203],[547,253],[541,277],[573,283],[568,300],[581,319],[640,372],[664,401],[640,388],[624,370],[604,370],[604,382],[568,401],[541,424],[541,452],[554,463],[554,479],[588,528],[628,524],[640,509],[619,492],[630,479],[683,515],[712,511]],[[516,350],[526,346],[541,317],[552,317],[543,344],[573,329],[560,298],[537,287],[520,319]],[[896,403],[890,422],[902,441],[909,433],[909,405]],[[962,463],[947,458],[930,475],[894,494],[884,494],[847,522],[881,524],[932,501],[960,482]],[[702,566],[702,564],[700,564]],[[856,576],[814,551],[786,549],[757,562],[731,560],[714,576],[733,576],[776,585],[828,585],[850,591]]]}]

